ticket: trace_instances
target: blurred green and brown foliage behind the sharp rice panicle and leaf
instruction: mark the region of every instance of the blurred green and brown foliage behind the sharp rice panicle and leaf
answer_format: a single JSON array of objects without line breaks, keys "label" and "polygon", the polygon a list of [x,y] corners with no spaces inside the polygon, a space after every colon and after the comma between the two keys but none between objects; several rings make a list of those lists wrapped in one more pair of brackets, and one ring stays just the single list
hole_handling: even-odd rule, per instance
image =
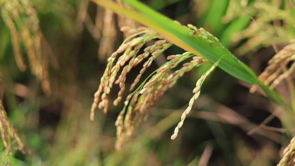
[{"label": "blurred green and brown foliage behind the sharp rice panicle and leaf", "polygon": [[[9,149],[1,142],[0,165],[272,166],[294,135],[293,114],[250,94],[247,84],[218,69],[203,85],[180,135],[171,141],[191,90],[210,67],[201,66],[184,75],[124,148],[115,151],[114,124],[122,104],[111,107],[106,116],[98,111],[94,122],[89,121],[89,110],[107,57],[128,35],[119,27],[138,25],[88,0],[19,1],[0,0],[0,97],[26,153],[14,148],[16,141],[12,140]],[[295,7],[290,0],[144,2],[181,24],[191,23],[213,33],[258,74],[295,38]],[[7,13],[16,20],[15,34]],[[26,70],[17,62],[16,36],[23,63],[31,64]],[[38,41],[41,45],[37,47]],[[37,51],[35,63],[32,48]],[[180,52],[172,47],[167,55]],[[149,71],[163,62],[165,57],[158,58]],[[277,89],[291,100],[286,83]]]}]

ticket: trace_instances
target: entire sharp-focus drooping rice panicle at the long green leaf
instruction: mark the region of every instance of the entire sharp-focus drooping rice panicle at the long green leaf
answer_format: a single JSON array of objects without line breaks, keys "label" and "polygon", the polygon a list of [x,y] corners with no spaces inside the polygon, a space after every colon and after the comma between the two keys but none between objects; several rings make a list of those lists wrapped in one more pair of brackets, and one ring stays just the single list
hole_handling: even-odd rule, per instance
[{"label": "entire sharp-focus drooping rice panicle at the long green leaf", "polygon": [[[197,28],[191,24],[188,25],[191,30],[190,35],[195,35],[206,41],[213,47],[224,47],[219,43],[218,39],[211,33],[205,31],[203,28]],[[122,100],[122,95],[126,89],[126,76],[134,66],[138,66],[143,62],[143,66],[139,75],[131,84],[130,90],[134,90],[129,94],[124,101],[124,107],[120,111],[115,126],[117,128],[117,141],[115,144],[116,149],[121,149],[125,139],[131,136],[134,129],[145,121],[149,116],[149,108],[154,106],[157,101],[164,95],[164,92],[173,87],[175,83],[181,78],[185,72],[200,66],[207,62],[206,59],[198,57],[191,52],[184,52],[182,54],[170,55],[167,57],[168,62],[160,66],[157,70],[151,73],[141,84],[136,86],[143,73],[152,64],[152,62],[165,50],[172,46],[172,44],[161,36],[146,27],[130,28],[121,27],[123,32],[131,33],[121,46],[108,58],[108,64],[101,77],[98,90],[94,95],[94,101],[91,107],[90,119],[94,120],[96,108],[103,109],[104,113],[108,111],[108,95],[115,84],[118,84],[120,90],[117,98],[113,104],[118,105]],[[143,53],[139,53],[141,48],[148,42],[154,41],[154,44],[143,49]],[[138,55],[139,54],[139,55]],[[118,57],[118,58],[117,58]],[[182,64],[182,67],[176,71],[171,71],[173,68]],[[204,79],[209,75],[213,68],[205,73],[197,87],[203,83]],[[119,71],[121,70],[120,74]],[[194,92],[196,91],[194,90]],[[197,97],[196,97],[197,99]],[[190,104],[192,101],[190,102]]]}]

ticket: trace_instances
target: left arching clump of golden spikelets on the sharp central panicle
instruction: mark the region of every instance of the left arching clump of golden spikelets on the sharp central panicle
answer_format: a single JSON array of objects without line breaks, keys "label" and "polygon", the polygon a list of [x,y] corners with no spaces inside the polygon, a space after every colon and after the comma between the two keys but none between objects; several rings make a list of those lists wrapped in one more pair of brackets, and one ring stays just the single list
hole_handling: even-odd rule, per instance
[{"label": "left arching clump of golden spikelets on the sharp central panicle", "polygon": [[[135,32],[135,34],[128,37],[123,42],[123,44],[112,54],[112,56],[108,58],[106,70],[100,80],[100,85],[98,87],[98,91],[95,93],[95,98],[91,107],[90,118],[92,120],[94,119],[94,111],[97,107],[100,109],[104,108],[104,113],[107,113],[109,103],[108,94],[110,93],[114,83],[117,83],[120,86],[120,91],[118,93],[117,99],[114,101],[114,104],[117,105],[121,101],[123,92],[125,91],[125,80],[127,73],[133,66],[139,64],[145,56],[149,55],[141,54],[137,56],[138,51],[144,46],[146,42],[159,38],[158,33],[147,28],[138,28]],[[117,55],[121,53],[123,54],[117,59],[117,62],[115,63]],[[128,65],[125,66],[128,61]],[[123,70],[119,77],[116,78],[117,73],[122,66],[124,66]],[[99,101],[100,99],[101,101]]]}]

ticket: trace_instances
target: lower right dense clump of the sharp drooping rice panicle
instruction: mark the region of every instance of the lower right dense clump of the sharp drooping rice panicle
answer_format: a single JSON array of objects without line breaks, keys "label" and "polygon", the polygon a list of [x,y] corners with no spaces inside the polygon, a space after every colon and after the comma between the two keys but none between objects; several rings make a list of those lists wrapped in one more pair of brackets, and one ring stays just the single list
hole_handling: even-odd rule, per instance
[{"label": "lower right dense clump of the sharp drooping rice panicle", "polygon": [[[171,69],[191,57],[193,59],[190,62],[184,63],[179,70],[170,73]],[[191,52],[170,55],[167,59],[170,61],[158,68],[148,82],[142,84],[141,90],[138,89],[133,95],[129,95],[124,102],[125,109],[121,111],[120,115],[127,112],[125,119],[123,121],[122,116],[119,115],[115,123],[117,126],[116,149],[121,149],[124,139],[129,137],[134,128],[147,119],[149,108],[156,104],[166,90],[171,88],[185,72],[206,62],[205,59],[197,57]]]}]

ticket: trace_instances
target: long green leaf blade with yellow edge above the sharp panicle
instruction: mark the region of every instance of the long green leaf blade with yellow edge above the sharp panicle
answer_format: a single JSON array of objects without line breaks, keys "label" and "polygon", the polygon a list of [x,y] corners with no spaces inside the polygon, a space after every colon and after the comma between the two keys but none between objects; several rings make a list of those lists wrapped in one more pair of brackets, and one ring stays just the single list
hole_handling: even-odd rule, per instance
[{"label": "long green leaf blade with yellow edge above the sharp panicle", "polygon": [[[168,17],[149,8],[145,4],[137,0],[125,0],[134,9],[126,8],[109,0],[93,0],[95,3],[115,11],[117,14],[130,17],[139,23],[157,31],[167,38],[176,46],[190,51],[198,56],[204,57],[211,62],[217,62],[222,56],[218,67],[229,73],[231,76],[240,79],[246,83],[259,84],[256,74],[243,62],[239,61],[229,50],[222,47],[215,47],[208,43],[207,39],[199,38],[191,34],[191,31],[174,22]],[[221,45],[221,44],[220,44]],[[225,56],[224,56],[225,55]],[[277,104],[281,104],[282,100],[279,95],[270,90],[267,86],[262,89],[268,97]]]}]

